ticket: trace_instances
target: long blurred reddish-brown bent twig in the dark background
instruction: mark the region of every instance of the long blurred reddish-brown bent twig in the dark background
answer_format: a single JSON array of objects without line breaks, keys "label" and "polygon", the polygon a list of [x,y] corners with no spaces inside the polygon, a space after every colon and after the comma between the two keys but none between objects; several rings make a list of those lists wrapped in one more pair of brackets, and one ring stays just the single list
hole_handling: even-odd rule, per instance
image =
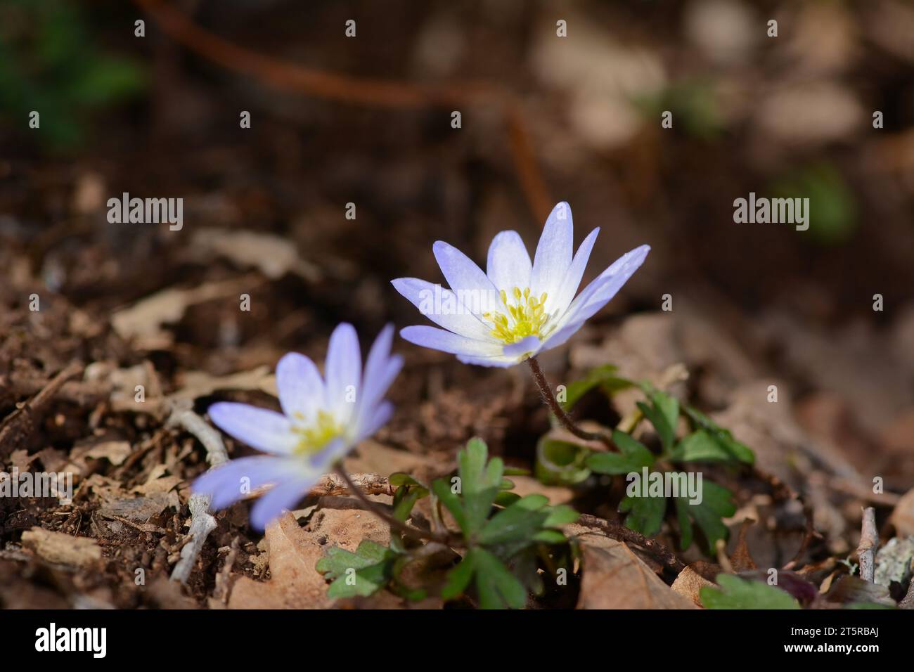
[{"label": "long blurred reddish-brown bent twig in the dark background", "polygon": [[534,216],[544,221],[551,208],[540,173],[525,112],[516,95],[485,80],[448,84],[410,84],[396,80],[358,78],[276,59],[228,42],[197,26],[182,12],[160,0],[134,0],[176,42],[219,66],[255,77],[275,89],[296,91],[329,101],[390,109],[484,105],[505,115],[508,145],[518,182]]}]

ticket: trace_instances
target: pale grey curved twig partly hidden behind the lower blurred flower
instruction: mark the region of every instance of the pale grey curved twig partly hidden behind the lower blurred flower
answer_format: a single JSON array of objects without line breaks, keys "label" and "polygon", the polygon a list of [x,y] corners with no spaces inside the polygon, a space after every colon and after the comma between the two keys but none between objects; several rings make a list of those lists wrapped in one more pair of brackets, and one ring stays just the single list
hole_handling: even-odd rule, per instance
[{"label": "pale grey curved twig partly hidden behind the lower blurred flower", "polygon": [[[225,444],[222,443],[222,437],[218,432],[209,426],[207,421],[203,420],[197,413],[191,411],[187,404],[173,403],[172,414],[166,422],[167,426],[180,426],[192,433],[203,443],[207,449],[207,463],[209,468],[218,467],[220,464],[228,462],[228,453],[226,453]],[[190,507],[190,530],[187,532],[187,538],[184,548],[181,549],[181,558],[175,563],[175,569],[172,570],[171,580],[186,583],[190,576],[190,571],[197,562],[197,556],[203,549],[203,544],[207,540],[209,533],[216,529],[216,518],[209,514],[209,505],[212,502],[210,496],[194,494],[190,496],[188,507]]]}]

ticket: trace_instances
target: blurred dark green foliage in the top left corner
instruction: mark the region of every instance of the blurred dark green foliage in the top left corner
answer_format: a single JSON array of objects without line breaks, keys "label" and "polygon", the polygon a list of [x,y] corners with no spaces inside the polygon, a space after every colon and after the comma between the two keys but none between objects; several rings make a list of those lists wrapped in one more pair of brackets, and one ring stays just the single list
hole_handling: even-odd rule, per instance
[{"label": "blurred dark green foliage in the top left corner", "polygon": [[[133,31],[133,24],[124,29]],[[79,147],[88,139],[92,112],[144,87],[138,63],[99,48],[79,4],[0,3],[0,116],[27,128],[29,112],[37,111],[44,146]]]}]

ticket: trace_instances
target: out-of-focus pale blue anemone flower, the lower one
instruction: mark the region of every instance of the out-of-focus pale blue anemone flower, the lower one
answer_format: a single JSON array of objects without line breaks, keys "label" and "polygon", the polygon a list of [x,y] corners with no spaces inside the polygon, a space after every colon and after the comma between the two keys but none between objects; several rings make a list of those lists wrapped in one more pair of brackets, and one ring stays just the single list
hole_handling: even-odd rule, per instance
[{"label": "out-of-focus pale blue anemone flower, the lower one", "polygon": [[212,496],[213,510],[228,507],[261,485],[272,485],[250,512],[263,529],[293,507],[322,475],[332,471],[357,443],[377,432],[393,413],[384,400],[403,366],[390,354],[393,326],[377,336],[362,370],[358,336],[342,324],[330,336],[321,377],[308,357],[291,352],[276,365],[282,413],[242,403],[209,407],[223,432],[264,455],[242,457],[197,478],[193,491]]}]

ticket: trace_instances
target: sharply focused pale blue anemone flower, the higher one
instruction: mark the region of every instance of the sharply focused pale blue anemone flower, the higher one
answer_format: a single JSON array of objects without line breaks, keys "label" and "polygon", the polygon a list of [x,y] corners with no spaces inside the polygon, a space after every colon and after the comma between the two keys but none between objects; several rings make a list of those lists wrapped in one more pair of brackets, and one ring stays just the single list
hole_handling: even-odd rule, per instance
[{"label": "sharply focused pale blue anemone flower, the higher one", "polygon": [[590,231],[572,255],[571,208],[559,203],[546,220],[533,263],[517,232],[502,231],[489,246],[487,272],[438,240],[432,251],[450,290],[417,278],[392,283],[443,328],[408,326],[400,336],[484,367],[510,367],[562,345],[619,292],[651,250],[642,245],[622,255],[576,298],[599,231]]}]

